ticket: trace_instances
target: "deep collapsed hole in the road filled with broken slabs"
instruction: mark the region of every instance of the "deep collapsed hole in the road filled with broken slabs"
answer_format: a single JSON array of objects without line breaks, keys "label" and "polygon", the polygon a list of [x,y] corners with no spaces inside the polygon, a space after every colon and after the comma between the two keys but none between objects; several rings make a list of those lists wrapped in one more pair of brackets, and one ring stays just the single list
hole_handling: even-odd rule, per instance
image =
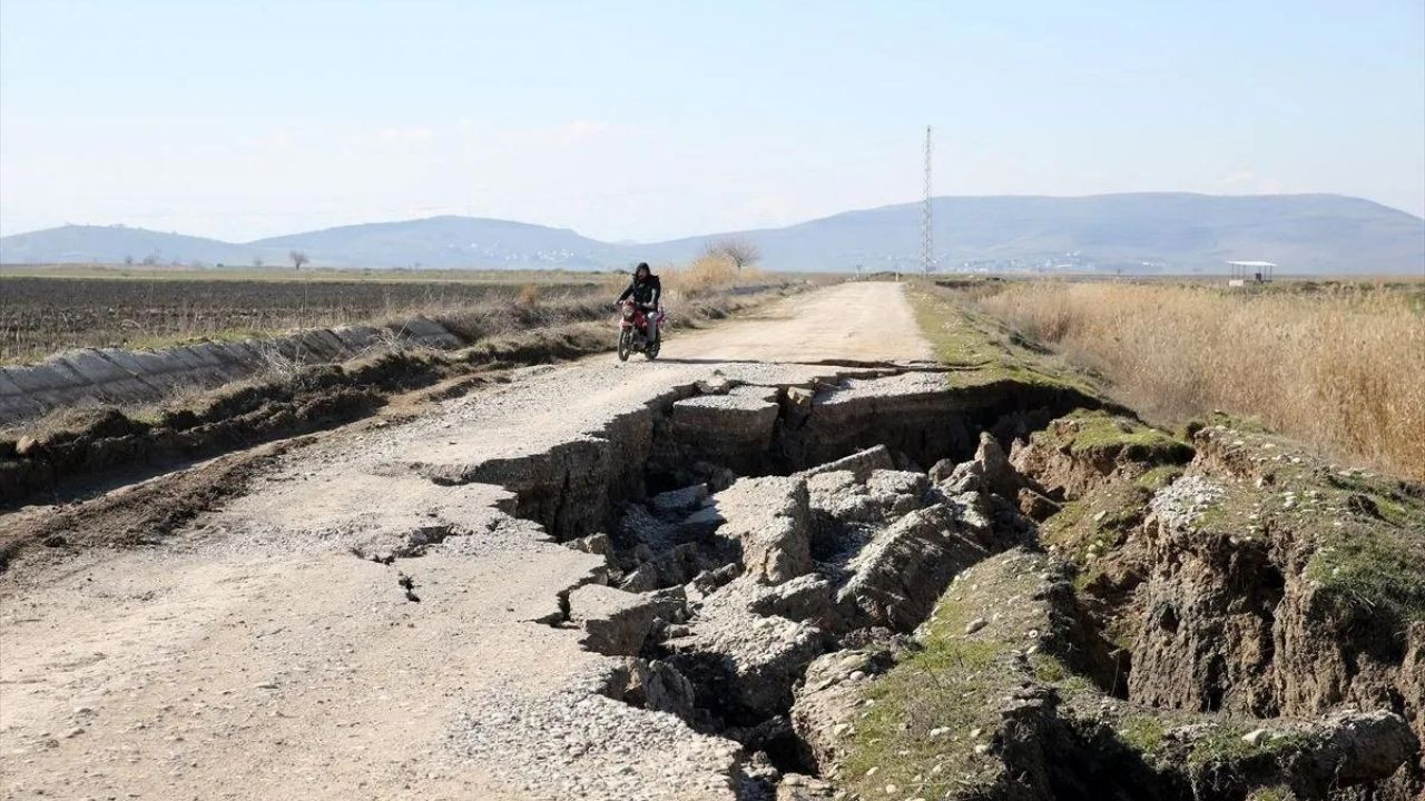
[{"label": "deep collapsed hole in the road filled with broken slabs", "polygon": [[510,489],[514,515],[604,554],[607,574],[561,591],[543,623],[621,658],[600,694],[735,741],[737,794],[761,798],[818,770],[791,720],[817,658],[856,646],[889,664],[959,570],[1032,530],[988,487],[946,495],[922,465],[948,472],[993,446],[982,432],[1093,403],[1015,382],[956,391],[928,365],[799,385],[714,375],[546,452],[413,466]]}]

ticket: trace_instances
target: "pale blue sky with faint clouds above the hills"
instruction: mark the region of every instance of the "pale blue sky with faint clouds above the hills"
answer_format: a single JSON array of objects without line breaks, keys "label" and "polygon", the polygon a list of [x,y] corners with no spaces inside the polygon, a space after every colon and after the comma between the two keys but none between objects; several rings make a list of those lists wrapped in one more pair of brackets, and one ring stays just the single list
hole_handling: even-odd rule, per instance
[{"label": "pale blue sky with faint clouds above the hills", "polygon": [[467,214],[610,241],[936,195],[1425,215],[1425,3],[0,0],[0,234]]}]

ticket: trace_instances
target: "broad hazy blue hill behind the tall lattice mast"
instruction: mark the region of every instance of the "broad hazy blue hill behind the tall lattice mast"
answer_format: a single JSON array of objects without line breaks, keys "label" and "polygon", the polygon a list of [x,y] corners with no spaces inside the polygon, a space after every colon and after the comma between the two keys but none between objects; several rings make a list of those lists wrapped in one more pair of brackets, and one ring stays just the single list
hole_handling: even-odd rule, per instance
[{"label": "broad hazy blue hill behind the tall lattice mast", "polygon": [[[1082,198],[949,197],[932,201],[945,269],[1221,271],[1227,259],[1284,272],[1425,272],[1425,219],[1341,195],[1121,194]],[[913,268],[921,204],[848,211],[787,228],[731,234],[788,269]],[[718,237],[651,245],[681,259]]]}]

